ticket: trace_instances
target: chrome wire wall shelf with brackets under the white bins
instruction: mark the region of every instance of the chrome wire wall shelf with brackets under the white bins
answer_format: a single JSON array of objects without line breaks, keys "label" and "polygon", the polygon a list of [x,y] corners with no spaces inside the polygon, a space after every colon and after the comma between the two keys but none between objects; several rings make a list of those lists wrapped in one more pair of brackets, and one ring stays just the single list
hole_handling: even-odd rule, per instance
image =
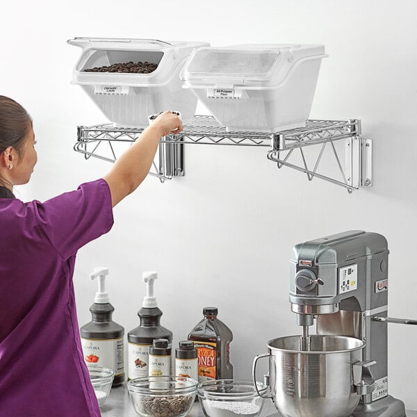
[{"label": "chrome wire wall shelf with brackets under the white bins", "polygon": [[[115,127],[111,123],[79,126],[74,150],[84,154],[86,159],[93,156],[115,162],[117,144],[133,143],[142,131],[140,128]],[[342,146],[336,146],[336,142]],[[181,133],[161,139],[159,165],[154,161],[154,172],[149,174],[161,181],[183,176],[183,146],[186,144],[268,147],[267,158],[277,163],[277,167],[287,166],[304,172],[309,181],[315,177],[324,179],[345,187],[349,193],[372,185],[372,141],[361,138],[359,120],[307,120],[303,128],[265,133],[227,131],[213,116],[195,115],[190,124],[183,126]],[[307,147],[317,149],[312,160],[311,155],[307,155]],[[298,163],[292,161],[295,154],[298,154]],[[336,172],[325,174],[319,167],[326,165],[322,161],[329,154]]]}]

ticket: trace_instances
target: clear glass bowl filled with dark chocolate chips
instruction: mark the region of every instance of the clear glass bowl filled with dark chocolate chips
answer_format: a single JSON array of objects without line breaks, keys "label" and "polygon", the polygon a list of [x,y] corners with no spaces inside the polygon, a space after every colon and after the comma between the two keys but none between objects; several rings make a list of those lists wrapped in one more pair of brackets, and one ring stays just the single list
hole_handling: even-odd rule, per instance
[{"label": "clear glass bowl filled with dark chocolate chips", "polygon": [[140,417],[184,417],[193,407],[198,382],[186,377],[142,377],[127,382]]}]

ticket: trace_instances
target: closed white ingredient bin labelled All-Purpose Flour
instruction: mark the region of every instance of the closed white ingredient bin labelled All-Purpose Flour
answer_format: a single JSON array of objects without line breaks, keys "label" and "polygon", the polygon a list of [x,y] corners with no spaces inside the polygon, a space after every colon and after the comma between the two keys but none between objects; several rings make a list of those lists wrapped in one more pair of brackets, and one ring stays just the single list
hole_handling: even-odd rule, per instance
[{"label": "closed white ingredient bin labelled All-Purpose Flour", "polygon": [[271,133],[305,126],[325,57],[315,44],[202,47],[181,78],[227,130]]}]

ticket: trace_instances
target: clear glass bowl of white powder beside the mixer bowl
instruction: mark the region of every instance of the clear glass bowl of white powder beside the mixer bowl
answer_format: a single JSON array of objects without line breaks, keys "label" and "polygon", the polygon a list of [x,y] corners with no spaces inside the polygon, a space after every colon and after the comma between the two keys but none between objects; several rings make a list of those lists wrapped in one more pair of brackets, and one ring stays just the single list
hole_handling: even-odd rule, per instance
[{"label": "clear glass bowl of white powder beside the mixer bowl", "polygon": [[[261,393],[266,386],[256,382]],[[215,379],[197,386],[199,402],[206,417],[255,417],[263,407],[263,398],[256,392],[253,381]]]}]

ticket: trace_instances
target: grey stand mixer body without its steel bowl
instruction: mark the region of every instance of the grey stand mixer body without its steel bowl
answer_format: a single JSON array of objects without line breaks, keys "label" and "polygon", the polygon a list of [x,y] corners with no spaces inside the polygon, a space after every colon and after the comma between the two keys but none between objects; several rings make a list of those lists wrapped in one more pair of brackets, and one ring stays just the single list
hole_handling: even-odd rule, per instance
[{"label": "grey stand mixer body without its steel bowl", "polygon": [[361,378],[368,379],[368,389],[357,391],[361,398],[352,417],[406,416],[404,403],[388,391],[386,322],[416,325],[417,320],[387,317],[388,254],[384,236],[365,231],[293,247],[290,302],[302,326],[301,350],[311,349],[314,319],[317,335],[350,336],[365,343]]}]

